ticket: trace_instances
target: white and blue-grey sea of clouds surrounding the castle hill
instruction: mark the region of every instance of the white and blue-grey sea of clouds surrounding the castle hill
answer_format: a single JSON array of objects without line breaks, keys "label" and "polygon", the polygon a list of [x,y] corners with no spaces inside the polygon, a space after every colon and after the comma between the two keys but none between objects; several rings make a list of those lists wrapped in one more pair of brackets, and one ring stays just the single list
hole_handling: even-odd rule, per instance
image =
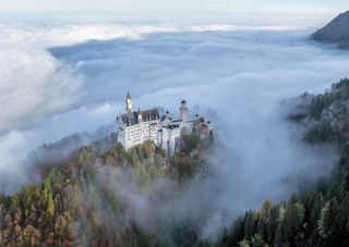
[{"label": "white and blue-grey sea of clouds surrounding the castle hill", "polygon": [[302,144],[279,106],[348,76],[348,52],[309,39],[327,17],[0,16],[1,190],[34,180],[23,160],[37,146],[115,121],[129,88],[136,108],[176,115],[184,98],[213,123],[216,172],[201,187],[217,212],[287,198],[336,159]]}]

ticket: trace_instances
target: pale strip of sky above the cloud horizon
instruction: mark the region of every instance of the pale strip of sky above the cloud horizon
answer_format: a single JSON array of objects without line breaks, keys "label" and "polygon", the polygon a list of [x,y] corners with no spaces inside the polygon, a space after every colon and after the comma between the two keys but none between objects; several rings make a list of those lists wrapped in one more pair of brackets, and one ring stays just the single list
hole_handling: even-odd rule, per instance
[{"label": "pale strip of sky above the cloud horizon", "polygon": [[1,12],[344,12],[348,0],[0,0]]}]

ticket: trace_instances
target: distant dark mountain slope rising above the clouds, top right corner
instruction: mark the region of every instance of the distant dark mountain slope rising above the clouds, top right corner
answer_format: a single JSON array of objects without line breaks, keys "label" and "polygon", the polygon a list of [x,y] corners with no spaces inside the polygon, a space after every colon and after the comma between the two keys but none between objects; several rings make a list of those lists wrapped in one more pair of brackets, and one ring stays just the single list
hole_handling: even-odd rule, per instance
[{"label": "distant dark mountain slope rising above the clouds, top right corner", "polygon": [[313,34],[312,38],[321,42],[338,44],[339,48],[349,49],[349,11],[339,14]]}]

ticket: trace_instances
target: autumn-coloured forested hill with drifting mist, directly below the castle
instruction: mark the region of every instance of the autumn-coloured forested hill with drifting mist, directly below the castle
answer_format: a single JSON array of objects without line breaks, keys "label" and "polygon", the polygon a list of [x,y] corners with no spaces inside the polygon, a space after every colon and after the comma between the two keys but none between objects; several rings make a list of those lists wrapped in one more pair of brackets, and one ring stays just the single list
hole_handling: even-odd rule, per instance
[{"label": "autumn-coloured forested hill with drifting mist, directly below the castle", "polygon": [[202,139],[193,129],[173,158],[152,141],[129,151],[112,143],[113,135],[69,148],[69,155],[62,152],[64,141],[34,151],[43,183],[0,193],[0,246],[188,246],[188,239],[197,240],[198,230],[163,211],[166,203],[171,209],[189,178],[200,183],[207,176],[213,134]]}]

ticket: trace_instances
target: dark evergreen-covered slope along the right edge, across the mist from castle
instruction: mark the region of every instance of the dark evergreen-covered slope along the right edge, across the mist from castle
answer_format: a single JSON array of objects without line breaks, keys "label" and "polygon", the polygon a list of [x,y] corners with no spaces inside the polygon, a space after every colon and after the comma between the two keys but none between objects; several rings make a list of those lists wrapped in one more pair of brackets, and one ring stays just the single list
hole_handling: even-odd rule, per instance
[{"label": "dark evergreen-covered slope along the right edge, across the mist from castle", "polygon": [[288,201],[265,201],[226,230],[218,242],[204,246],[349,246],[349,79],[329,91],[298,100],[290,120],[306,127],[304,140],[332,144],[340,160],[312,194],[293,194]]}]

